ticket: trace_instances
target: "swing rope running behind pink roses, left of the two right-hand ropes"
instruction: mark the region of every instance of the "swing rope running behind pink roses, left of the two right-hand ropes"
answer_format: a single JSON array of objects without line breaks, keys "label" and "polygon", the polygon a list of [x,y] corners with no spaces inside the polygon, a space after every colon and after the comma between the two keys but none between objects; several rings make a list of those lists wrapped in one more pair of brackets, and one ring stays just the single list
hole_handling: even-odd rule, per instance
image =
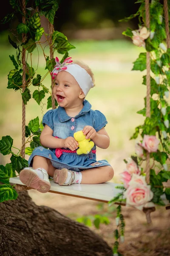
[{"label": "swing rope running behind pink roses, left of the two right-hand ropes", "polygon": [[[149,12],[149,0],[145,0],[145,13],[146,13],[146,26],[150,28],[150,12]],[[147,85],[147,96],[146,96],[146,116],[150,117],[150,53],[146,53],[146,85]],[[146,153],[146,182],[150,183],[150,153]]]}]

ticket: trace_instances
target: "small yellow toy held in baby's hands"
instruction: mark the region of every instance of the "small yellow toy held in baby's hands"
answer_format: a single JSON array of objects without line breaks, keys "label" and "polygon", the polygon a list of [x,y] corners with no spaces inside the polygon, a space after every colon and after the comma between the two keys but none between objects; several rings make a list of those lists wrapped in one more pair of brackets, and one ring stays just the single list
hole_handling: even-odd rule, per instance
[{"label": "small yellow toy held in baby's hands", "polygon": [[82,131],[77,131],[74,133],[74,139],[79,143],[79,148],[77,149],[77,154],[88,154],[91,148],[94,147],[94,142],[91,139],[85,139],[86,135]]}]

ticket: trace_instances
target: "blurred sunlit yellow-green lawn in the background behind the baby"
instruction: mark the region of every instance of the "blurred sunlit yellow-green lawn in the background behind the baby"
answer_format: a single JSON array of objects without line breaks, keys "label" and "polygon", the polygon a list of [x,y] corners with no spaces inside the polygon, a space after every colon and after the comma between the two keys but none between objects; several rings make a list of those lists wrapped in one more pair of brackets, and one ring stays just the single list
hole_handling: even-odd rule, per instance
[{"label": "blurred sunlit yellow-green lawn in the background behind the baby", "polygon": [[[96,86],[91,89],[87,99],[92,108],[102,111],[108,120],[106,130],[111,138],[111,145],[107,150],[98,149],[99,157],[113,161],[115,154],[122,152],[122,159],[134,152],[134,141],[129,141],[130,136],[137,125],[142,124],[143,116],[136,111],[144,107],[144,96],[146,87],[142,85],[144,72],[131,71],[133,61],[136,60],[142,48],[135,47],[129,41],[72,41],[76,49],[69,53],[73,59],[86,62],[94,71]],[[49,55],[48,48],[45,54]],[[40,54],[41,53],[41,54]],[[21,120],[22,103],[20,92],[7,89],[7,75],[14,66],[8,55],[14,54],[15,49],[10,45],[0,47],[0,135],[10,135],[14,139],[14,146],[21,146]],[[45,59],[39,48],[39,68],[36,74],[42,77],[46,74]],[[62,56],[54,53],[54,56]],[[38,53],[34,50],[32,65],[37,69]],[[28,57],[30,63],[30,57]],[[43,84],[50,88],[51,80],[48,75]],[[30,87],[33,93],[34,89]],[[49,96],[49,95],[48,95]],[[31,119],[42,115],[47,111],[46,99],[42,100],[40,106],[34,99],[26,105],[26,124]],[[28,145],[27,145],[28,146]]]}]

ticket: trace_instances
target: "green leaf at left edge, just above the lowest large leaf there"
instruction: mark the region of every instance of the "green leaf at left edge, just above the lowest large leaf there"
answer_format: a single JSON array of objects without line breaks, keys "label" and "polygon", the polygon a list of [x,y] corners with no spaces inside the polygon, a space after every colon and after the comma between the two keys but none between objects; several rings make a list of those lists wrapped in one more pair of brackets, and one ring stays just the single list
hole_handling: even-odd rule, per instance
[{"label": "green leaf at left edge, just above the lowest large leaf there", "polygon": [[16,177],[12,164],[7,163],[6,166],[0,165],[0,182],[9,184],[9,178],[11,177]]}]

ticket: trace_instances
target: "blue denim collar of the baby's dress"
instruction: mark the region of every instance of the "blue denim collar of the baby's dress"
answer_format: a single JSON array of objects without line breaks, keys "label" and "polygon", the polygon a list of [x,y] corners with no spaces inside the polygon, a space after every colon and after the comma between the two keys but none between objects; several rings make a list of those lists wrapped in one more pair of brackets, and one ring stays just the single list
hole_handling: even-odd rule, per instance
[{"label": "blue denim collar of the baby's dress", "polygon": [[[79,116],[82,116],[91,110],[91,104],[86,99],[83,101],[83,105],[84,105],[84,107],[82,108],[82,110],[74,118],[78,118]],[[58,118],[59,118],[60,122],[65,122],[65,121],[68,121],[69,119],[71,119],[71,116],[68,116],[68,114],[65,112],[65,108],[62,108],[59,106],[58,107]]]}]

